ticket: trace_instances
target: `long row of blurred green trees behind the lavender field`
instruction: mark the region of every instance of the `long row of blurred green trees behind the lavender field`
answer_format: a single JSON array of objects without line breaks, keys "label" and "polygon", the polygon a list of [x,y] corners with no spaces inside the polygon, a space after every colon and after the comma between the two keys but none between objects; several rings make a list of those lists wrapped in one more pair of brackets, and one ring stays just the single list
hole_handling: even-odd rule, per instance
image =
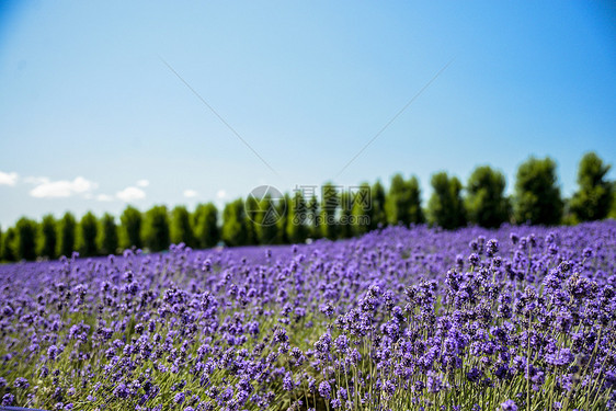
[{"label": "long row of blurred green trees behind the lavender field", "polygon": [[[467,225],[551,226],[616,218],[616,184],[606,180],[609,168],[596,153],[584,155],[578,169],[578,191],[566,199],[560,195],[555,161],[549,157],[531,157],[517,169],[512,196],[505,196],[504,175],[481,165],[464,187],[446,172],[433,174],[433,193],[425,208],[421,205],[418,179],[404,180],[396,174],[387,191],[379,181],[361,185],[369,190],[369,204],[353,202],[346,192],[327,198],[304,198],[298,191],[293,197],[285,194],[285,202],[265,197],[265,203],[260,204],[249,197],[246,205],[238,198],[225,205],[221,224],[212,203],[199,204],[192,213],[185,206],[169,210],[156,205],[145,213],[127,206],[119,225],[110,214],[96,218],[91,212],[79,221],[71,213],[60,219],[46,215],[39,222],[22,217],[14,227],[0,232],[0,260],[55,259],[70,256],[73,251],[82,256],[107,255],[127,248],[156,252],[180,242],[195,249],[212,248],[220,241],[230,247],[301,243],[307,239],[350,238],[398,224],[456,229]],[[336,193],[328,189],[335,189],[332,183],[327,183],[322,192]],[[270,209],[280,218],[273,225],[264,225],[260,218],[266,213],[248,215],[254,209]]]}]

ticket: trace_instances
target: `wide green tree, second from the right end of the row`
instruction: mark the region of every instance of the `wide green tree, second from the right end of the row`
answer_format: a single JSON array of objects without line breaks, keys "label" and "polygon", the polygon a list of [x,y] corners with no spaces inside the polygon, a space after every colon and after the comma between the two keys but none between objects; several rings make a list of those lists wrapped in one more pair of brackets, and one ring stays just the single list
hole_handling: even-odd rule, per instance
[{"label": "wide green tree, second from the right end of the row", "polygon": [[514,214],[516,222],[557,225],[562,217],[562,199],[557,184],[556,163],[549,157],[531,157],[517,169]]}]

